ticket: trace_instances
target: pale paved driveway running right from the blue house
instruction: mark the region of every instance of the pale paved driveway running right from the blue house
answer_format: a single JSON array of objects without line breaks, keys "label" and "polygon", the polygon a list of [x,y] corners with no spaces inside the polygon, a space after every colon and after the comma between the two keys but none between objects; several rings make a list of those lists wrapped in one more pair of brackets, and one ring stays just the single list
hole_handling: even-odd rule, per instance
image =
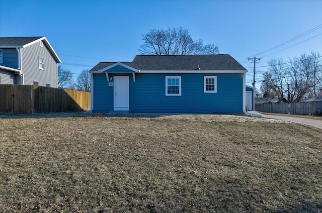
[{"label": "pale paved driveway running right from the blue house", "polygon": [[264,114],[261,114],[261,113],[256,112],[256,111],[250,111],[250,113],[262,116],[263,118],[278,119],[278,120],[282,120],[282,121],[289,121],[289,122],[309,125],[309,126],[313,126],[313,127],[317,127],[317,128],[322,129],[322,121],[320,121],[320,120],[303,119],[303,118],[295,118],[295,117],[288,117],[288,116],[264,115]]}]

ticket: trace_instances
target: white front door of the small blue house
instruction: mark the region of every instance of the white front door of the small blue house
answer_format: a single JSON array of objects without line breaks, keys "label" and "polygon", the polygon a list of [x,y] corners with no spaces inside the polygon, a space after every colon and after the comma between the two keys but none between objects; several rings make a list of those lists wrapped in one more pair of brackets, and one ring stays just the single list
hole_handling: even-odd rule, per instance
[{"label": "white front door of the small blue house", "polygon": [[129,76],[114,76],[114,110],[129,110]]}]

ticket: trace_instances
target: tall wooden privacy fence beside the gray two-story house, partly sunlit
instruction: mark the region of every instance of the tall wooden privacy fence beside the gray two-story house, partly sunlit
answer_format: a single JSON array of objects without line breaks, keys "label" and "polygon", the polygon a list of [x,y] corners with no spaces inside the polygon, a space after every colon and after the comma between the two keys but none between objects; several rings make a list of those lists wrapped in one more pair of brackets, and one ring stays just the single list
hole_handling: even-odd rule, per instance
[{"label": "tall wooden privacy fence beside the gray two-story house, partly sunlit", "polygon": [[59,113],[90,109],[90,92],[33,85],[0,84],[0,113]]}]

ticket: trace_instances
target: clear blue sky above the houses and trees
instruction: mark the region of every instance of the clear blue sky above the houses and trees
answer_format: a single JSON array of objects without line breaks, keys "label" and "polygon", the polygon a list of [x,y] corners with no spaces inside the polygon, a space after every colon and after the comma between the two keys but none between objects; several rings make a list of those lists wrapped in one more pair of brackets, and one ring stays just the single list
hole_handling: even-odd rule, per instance
[{"label": "clear blue sky above the houses and trees", "polygon": [[322,1],[0,0],[0,37],[46,36],[74,76],[101,61],[132,61],[142,34],[180,26],[245,66],[249,85],[254,64],[248,57],[262,57],[256,64],[261,80],[273,57],[322,54]]}]

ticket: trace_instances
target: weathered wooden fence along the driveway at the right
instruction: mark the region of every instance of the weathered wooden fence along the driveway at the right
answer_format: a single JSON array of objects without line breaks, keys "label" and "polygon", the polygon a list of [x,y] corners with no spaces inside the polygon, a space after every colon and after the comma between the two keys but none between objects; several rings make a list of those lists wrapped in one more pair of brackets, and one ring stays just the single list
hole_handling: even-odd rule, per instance
[{"label": "weathered wooden fence along the driveway at the right", "polygon": [[255,110],[264,113],[322,116],[322,101],[256,103]]}]

